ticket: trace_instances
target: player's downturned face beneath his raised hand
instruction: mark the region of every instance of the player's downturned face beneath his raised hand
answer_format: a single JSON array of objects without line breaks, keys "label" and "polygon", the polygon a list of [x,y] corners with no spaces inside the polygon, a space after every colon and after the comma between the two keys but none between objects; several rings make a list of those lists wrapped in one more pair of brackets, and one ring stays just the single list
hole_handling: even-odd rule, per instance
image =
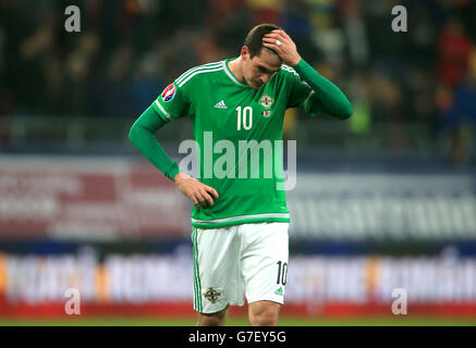
[{"label": "player's downturned face beneath his raised hand", "polygon": [[268,50],[253,58],[249,58],[249,52],[244,55],[243,76],[245,83],[253,89],[259,89],[268,83],[277,72],[281,70],[281,59]]}]

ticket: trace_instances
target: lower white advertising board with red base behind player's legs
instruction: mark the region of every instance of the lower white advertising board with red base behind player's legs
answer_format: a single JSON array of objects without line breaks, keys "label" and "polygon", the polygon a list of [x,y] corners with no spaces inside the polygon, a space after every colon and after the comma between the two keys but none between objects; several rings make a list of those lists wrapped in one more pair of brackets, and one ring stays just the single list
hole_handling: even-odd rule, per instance
[{"label": "lower white advertising board with red base behind player's legs", "polygon": [[[0,318],[193,314],[191,252],[0,251]],[[476,315],[476,259],[291,257],[283,314]],[[246,308],[233,308],[245,314]]]}]

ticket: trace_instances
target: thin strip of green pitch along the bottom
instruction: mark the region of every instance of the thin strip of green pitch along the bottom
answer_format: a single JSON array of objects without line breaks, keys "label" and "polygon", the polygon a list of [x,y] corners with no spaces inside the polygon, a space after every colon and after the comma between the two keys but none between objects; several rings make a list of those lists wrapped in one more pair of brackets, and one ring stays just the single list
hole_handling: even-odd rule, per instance
[{"label": "thin strip of green pitch along the bottom", "polygon": [[[65,319],[8,319],[0,318],[0,326],[195,326],[194,318],[85,318]],[[228,326],[249,326],[245,316],[229,318]],[[476,318],[434,316],[361,316],[342,318],[292,318],[280,319],[281,326],[476,326]]]}]

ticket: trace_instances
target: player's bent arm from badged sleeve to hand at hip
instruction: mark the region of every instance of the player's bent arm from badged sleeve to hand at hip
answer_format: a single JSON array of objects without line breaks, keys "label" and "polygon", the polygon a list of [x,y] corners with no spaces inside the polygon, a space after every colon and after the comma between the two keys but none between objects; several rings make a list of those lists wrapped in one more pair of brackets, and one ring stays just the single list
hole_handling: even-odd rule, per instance
[{"label": "player's bent arm from badged sleeve to hand at hip", "polygon": [[[171,86],[173,86],[173,88]],[[173,94],[170,94],[171,90]],[[217,199],[218,192],[212,187],[180,172],[179,165],[169,158],[155,136],[156,132],[167,122],[175,119],[172,114],[180,117],[187,113],[186,102],[183,100],[183,96],[179,96],[180,92],[178,92],[176,86],[169,85],[162,92],[162,96],[157,98],[133,124],[129,133],[129,139],[141,150],[150,163],[175,183],[179,190],[187,197],[198,210],[200,206],[211,208],[213,207],[211,196]],[[175,97],[176,100],[173,103],[166,104]]]}]

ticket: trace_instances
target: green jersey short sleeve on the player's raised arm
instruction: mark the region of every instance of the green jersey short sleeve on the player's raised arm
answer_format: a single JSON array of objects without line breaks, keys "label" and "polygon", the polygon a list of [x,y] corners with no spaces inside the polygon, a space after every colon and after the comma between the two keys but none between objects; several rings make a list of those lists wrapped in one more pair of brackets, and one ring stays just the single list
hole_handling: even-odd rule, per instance
[{"label": "green jersey short sleeve on the player's raised arm", "polygon": [[294,69],[283,65],[286,87],[290,89],[286,108],[301,108],[312,116],[319,113],[318,98],[310,86],[303,80]]}]

